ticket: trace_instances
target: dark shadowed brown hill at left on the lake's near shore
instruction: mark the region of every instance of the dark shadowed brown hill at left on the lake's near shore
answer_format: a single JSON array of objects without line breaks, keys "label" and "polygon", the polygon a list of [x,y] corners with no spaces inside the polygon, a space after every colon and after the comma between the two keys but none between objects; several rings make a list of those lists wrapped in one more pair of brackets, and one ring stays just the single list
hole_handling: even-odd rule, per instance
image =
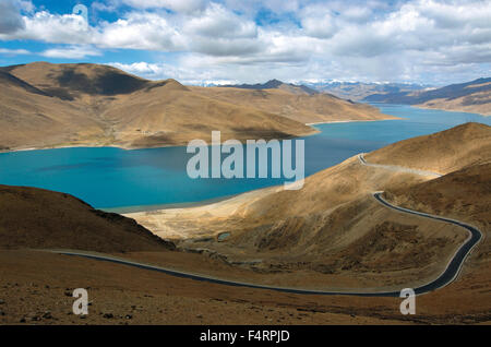
[{"label": "dark shadowed brown hill at left on the lake's near shore", "polygon": [[165,251],[173,244],[133,219],[94,210],[69,194],[0,186],[0,249]]}]

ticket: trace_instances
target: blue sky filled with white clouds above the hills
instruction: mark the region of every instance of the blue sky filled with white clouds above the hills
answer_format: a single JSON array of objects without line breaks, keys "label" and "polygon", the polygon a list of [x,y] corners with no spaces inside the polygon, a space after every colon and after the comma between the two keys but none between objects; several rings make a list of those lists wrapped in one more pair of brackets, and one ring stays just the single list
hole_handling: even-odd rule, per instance
[{"label": "blue sky filled with white clouds above the hills", "polygon": [[442,85],[491,75],[491,0],[0,0],[0,64],[39,60],[189,84]]}]

